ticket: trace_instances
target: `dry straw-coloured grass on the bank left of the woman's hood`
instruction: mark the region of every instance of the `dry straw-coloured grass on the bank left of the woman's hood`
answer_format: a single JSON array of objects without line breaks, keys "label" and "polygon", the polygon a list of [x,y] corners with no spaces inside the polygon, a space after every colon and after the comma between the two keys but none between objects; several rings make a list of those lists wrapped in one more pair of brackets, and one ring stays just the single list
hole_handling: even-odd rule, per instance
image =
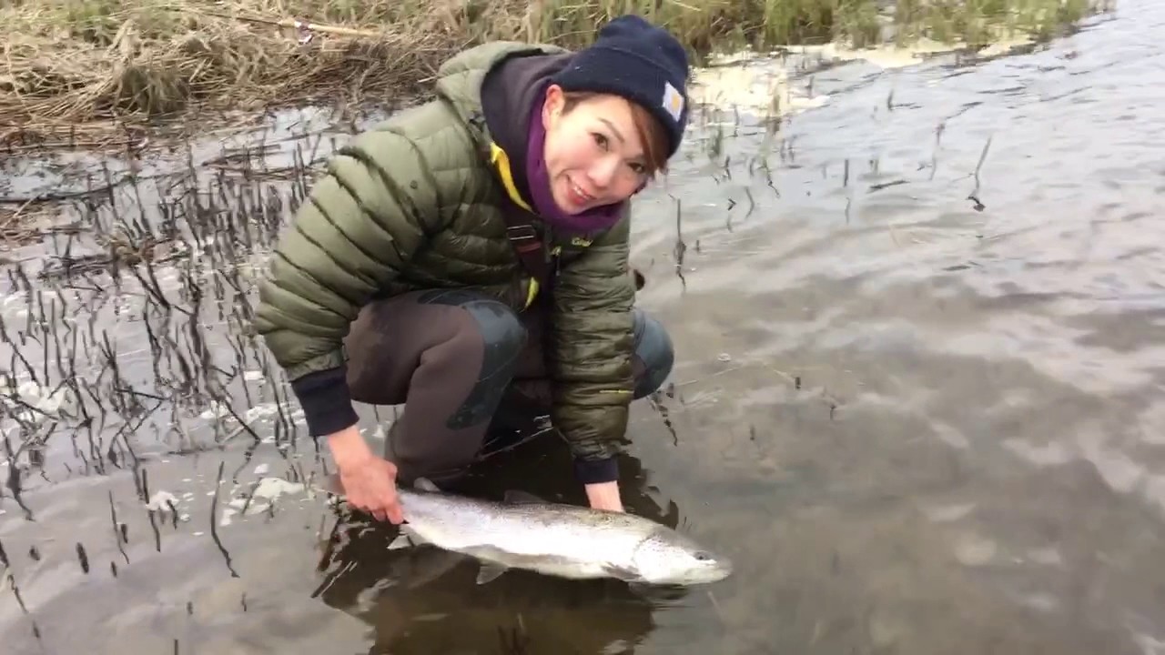
[{"label": "dry straw-coloured grass on the bank left of the woman's hood", "polygon": [[316,34],[299,43],[294,28],[245,20],[287,16],[263,0],[230,7],[50,0],[0,16],[7,31],[0,37],[0,143],[36,141],[38,133],[73,132],[93,121],[141,125],[200,104],[255,110],[336,101],[355,91],[407,94],[464,40],[438,28],[437,16],[412,19],[401,29],[402,15],[373,16],[384,22],[356,16],[386,29]]}]

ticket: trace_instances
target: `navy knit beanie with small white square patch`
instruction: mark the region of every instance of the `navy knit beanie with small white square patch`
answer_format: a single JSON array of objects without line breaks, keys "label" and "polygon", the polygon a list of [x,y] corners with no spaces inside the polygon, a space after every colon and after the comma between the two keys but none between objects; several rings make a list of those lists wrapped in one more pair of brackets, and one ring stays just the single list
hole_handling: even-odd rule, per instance
[{"label": "navy knit beanie with small white square patch", "polygon": [[642,105],[666,127],[668,157],[687,125],[687,52],[668,30],[636,15],[612,20],[551,82],[563,91],[614,93]]}]

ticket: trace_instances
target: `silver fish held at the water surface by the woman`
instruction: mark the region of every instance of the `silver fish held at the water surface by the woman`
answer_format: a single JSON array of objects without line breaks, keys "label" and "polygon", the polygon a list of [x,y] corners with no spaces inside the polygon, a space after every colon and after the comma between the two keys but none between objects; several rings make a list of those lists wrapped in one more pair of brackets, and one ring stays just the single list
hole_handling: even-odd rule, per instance
[{"label": "silver fish held at the water surface by the woman", "polygon": [[[325,491],[344,495],[336,474]],[[732,573],[732,562],[650,519],[622,512],[546,502],[511,491],[504,502],[440,492],[422,478],[397,487],[412,537],[474,557],[478,584],[507,569],[564,578],[616,578],[634,585],[714,583]]]}]

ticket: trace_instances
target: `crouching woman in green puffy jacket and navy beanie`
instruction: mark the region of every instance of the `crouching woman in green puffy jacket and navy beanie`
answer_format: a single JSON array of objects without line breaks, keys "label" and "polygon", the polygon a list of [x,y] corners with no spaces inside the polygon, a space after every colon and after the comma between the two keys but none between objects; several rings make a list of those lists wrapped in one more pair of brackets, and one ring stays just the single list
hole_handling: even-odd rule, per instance
[{"label": "crouching woman in green puffy jacket and navy beanie", "polygon": [[[549,414],[591,506],[622,510],[628,404],[672,364],[633,309],[629,199],[679,147],[686,79],[683,47],[638,16],[577,54],[487,43],[442,65],[437,99],[333,156],[256,328],[351,505],[401,522],[397,474],[456,476],[504,400]],[[404,403],[387,459],[353,400]]]}]

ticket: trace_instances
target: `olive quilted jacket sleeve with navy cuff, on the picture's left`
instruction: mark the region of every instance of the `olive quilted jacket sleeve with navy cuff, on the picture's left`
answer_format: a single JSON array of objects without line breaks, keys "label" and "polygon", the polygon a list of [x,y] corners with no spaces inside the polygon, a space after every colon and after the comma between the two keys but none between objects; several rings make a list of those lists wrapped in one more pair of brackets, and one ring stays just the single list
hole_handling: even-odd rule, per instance
[{"label": "olive quilted jacket sleeve with navy cuff, on the picture's left", "polygon": [[259,284],[255,329],[291,380],[312,436],[356,422],[343,339],[436,223],[438,185],[416,145],[381,126],[338,150]]}]

